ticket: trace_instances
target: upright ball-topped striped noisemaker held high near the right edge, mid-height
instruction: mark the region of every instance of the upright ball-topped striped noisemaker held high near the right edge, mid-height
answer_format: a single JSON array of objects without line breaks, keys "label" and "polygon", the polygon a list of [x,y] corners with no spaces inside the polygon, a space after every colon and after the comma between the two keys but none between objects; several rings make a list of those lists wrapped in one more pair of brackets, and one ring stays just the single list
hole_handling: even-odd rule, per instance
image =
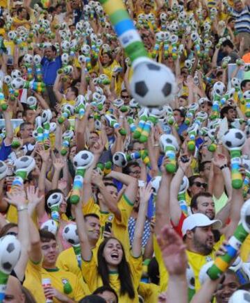
[{"label": "upright ball-topped striped noisemaker held high near the right edge, mid-height", "polygon": [[246,141],[246,136],[240,129],[229,129],[222,136],[222,144],[228,149],[231,157],[232,186],[235,189],[242,188],[242,174],[240,173],[241,149]]}]

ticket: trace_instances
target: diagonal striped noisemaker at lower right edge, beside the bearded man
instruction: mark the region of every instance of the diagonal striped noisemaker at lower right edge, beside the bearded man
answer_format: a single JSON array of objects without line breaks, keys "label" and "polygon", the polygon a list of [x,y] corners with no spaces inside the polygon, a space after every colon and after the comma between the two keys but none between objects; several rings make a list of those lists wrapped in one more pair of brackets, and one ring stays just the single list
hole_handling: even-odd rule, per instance
[{"label": "diagonal striped noisemaker at lower right edge, beside the bearded man", "polygon": [[226,245],[226,254],[223,256],[217,256],[213,265],[208,268],[207,275],[210,279],[218,279],[224,272],[226,272],[232,259],[237,255],[242,243],[250,233],[249,214],[250,199],[244,202],[242,206],[240,211],[240,223],[235,229],[233,236],[228,240],[228,245]]}]

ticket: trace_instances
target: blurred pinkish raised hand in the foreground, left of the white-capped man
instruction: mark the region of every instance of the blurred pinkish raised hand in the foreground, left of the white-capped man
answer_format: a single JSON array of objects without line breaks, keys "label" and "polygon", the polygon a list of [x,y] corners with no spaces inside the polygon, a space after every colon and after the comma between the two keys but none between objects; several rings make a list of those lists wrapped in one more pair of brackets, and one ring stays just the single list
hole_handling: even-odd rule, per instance
[{"label": "blurred pinkish raised hand in the foreground, left of the white-capped man", "polygon": [[185,275],[188,261],[181,237],[166,225],[157,240],[169,275]]}]

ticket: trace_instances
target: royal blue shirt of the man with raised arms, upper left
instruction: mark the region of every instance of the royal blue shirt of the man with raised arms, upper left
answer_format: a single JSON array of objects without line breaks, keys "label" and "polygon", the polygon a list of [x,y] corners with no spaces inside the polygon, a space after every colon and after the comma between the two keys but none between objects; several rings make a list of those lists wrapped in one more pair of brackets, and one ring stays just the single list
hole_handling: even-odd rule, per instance
[{"label": "royal blue shirt of the man with raised arms, upper left", "polygon": [[56,75],[59,68],[62,67],[62,60],[60,56],[53,60],[48,60],[46,57],[42,58],[42,75],[43,81],[46,85],[53,85],[56,81]]}]

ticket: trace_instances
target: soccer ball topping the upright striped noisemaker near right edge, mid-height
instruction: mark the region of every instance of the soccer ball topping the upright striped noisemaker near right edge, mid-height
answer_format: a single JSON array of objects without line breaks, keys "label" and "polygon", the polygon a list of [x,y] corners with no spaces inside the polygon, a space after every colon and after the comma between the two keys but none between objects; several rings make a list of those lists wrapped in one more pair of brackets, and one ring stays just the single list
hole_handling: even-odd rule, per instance
[{"label": "soccer ball topping the upright striped noisemaker near right edge, mid-height", "polygon": [[222,144],[226,149],[242,149],[246,135],[240,129],[229,129],[222,137]]}]

